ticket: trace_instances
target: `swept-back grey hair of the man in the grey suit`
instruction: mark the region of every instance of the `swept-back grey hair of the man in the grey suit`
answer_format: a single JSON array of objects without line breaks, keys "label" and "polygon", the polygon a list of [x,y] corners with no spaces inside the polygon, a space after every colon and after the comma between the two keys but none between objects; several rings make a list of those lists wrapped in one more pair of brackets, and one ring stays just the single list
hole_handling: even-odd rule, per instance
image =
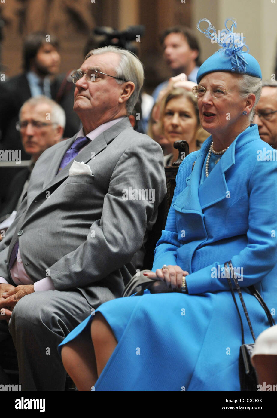
[{"label": "swept-back grey hair of the man in the grey suit", "polygon": [[[91,55],[101,55],[106,54],[107,52],[113,52],[114,54],[120,55],[120,61],[116,68],[116,76],[135,84],[135,90],[126,102],[127,114],[131,115],[134,106],[137,103],[144,80],[143,65],[135,54],[127,51],[127,49],[118,48],[117,46],[103,46],[102,48],[93,49],[86,55],[85,60]],[[117,80],[117,83],[123,84],[124,81]]]}]

